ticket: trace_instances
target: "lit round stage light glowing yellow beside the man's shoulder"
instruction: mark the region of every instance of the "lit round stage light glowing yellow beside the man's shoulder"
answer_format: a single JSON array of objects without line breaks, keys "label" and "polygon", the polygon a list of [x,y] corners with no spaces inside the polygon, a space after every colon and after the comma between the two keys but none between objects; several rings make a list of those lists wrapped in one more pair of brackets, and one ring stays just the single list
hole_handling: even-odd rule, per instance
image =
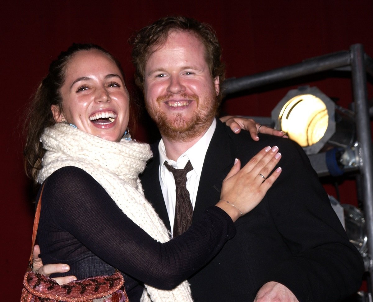
[{"label": "lit round stage light glowing yellow beside the man's shoulder", "polygon": [[354,113],[336,106],[317,87],[290,90],[272,110],[272,120],[307,154],[355,143]]}]

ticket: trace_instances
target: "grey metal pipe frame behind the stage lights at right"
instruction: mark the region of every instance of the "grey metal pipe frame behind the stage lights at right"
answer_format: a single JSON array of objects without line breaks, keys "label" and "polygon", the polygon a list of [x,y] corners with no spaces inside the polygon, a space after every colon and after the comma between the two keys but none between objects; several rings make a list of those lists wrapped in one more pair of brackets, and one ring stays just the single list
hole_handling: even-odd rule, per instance
[{"label": "grey metal pipe frame behind the stage lights at right", "polygon": [[369,105],[367,96],[367,76],[373,77],[373,59],[365,52],[361,44],[354,44],[350,50],[330,53],[323,56],[304,60],[299,64],[289,65],[274,70],[249,75],[241,78],[228,78],[223,84],[226,96],[233,93],[244,92],[249,89],[273,84],[284,80],[320,73],[329,70],[351,71],[354,111],[356,114],[355,126],[357,141],[361,147],[361,166],[358,169],[361,185],[364,217],[367,226],[370,278],[368,286],[373,289],[373,153],[370,132]]}]

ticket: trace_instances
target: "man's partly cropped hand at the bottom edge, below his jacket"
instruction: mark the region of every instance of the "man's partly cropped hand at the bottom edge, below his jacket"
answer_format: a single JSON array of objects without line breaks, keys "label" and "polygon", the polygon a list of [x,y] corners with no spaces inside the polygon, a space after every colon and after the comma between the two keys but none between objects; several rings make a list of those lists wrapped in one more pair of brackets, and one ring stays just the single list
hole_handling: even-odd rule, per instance
[{"label": "man's partly cropped hand at the bottom edge, below his jacket", "polygon": [[258,291],[254,302],[299,302],[285,285],[270,281]]}]

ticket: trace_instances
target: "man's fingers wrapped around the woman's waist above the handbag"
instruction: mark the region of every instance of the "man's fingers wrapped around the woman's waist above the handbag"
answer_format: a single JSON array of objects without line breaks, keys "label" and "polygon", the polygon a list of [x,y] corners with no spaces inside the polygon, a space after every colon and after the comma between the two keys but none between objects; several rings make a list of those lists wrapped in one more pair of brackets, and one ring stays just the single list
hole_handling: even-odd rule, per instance
[{"label": "man's fingers wrapped around the woman's waist above the handbag", "polygon": [[[43,265],[43,261],[39,257],[40,254],[40,247],[36,244],[34,246],[33,252],[33,264],[32,264],[32,271],[38,272],[39,274],[44,274],[49,276],[50,274],[54,274],[56,272],[68,272],[70,270],[70,266],[67,264],[59,263],[59,264],[46,264]],[[58,284],[66,284],[73,280],[76,280],[75,276],[66,276],[66,277],[57,277],[53,278],[57,281]]]}]

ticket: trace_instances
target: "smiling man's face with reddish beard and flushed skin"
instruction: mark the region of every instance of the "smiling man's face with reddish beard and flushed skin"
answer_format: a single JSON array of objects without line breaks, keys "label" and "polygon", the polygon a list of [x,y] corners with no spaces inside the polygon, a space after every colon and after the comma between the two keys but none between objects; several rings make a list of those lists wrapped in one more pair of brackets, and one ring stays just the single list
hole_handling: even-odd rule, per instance
[{"label": "smiling man's face with reddish beard and flushed skin", "polygon": [[203,135],[217,110],[219,77],[212,78],[203,43],[188,31],[170,31],[145,65],[145,104],[163,137]]}]

